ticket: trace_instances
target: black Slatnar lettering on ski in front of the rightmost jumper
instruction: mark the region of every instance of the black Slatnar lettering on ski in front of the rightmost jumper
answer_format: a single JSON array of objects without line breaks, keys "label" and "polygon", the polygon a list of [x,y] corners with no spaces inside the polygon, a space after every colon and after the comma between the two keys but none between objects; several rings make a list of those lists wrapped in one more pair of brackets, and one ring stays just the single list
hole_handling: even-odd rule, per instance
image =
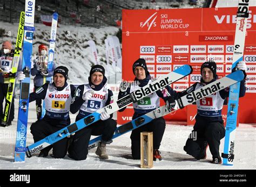
[{"label": "black Slatnar lettering on ski in front of the rightmost jumper", "polygon": [[196,100],[199,100],[207,95],[211,95],[213,92],[217,92],[219,90],[223,89],[223,87],[220,87],[220,82],[217,82],[213,85],[211,85],[211,87],[207,87],[205,89],[201,88],[198,91],[194,91],[192,93],[188,93],[186,95],[186,98],[188,99],[187,102],[188,103],[193,103]]}]

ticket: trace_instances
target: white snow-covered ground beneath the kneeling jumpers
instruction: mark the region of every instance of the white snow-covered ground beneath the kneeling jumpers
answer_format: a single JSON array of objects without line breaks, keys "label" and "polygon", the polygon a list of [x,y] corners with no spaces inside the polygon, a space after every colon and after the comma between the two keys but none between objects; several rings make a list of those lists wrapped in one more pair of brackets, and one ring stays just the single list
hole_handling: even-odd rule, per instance
[{"label": "white snow-covered ground beneath the kneeling jumpers", "polygon": [[[15,99],[15,116],[17,116]],[[71,122],[75,121],[75,114],[71,114]],[[27,145],[33,143],[30,125],[36,120],[35,102],[30,103]],[[168,124],[173,124],[168,121]],[[74,161],[68,156],[64,159],[53,159],[50,155],[39,158],[36,155],[26,158],[25,162],[15,163],[14,148],[16,139],[17,118],[12,126],[0,127],[0,169],[140,169],[140,161],[131,159],[130,133],[126,133],[113,140],[107,146],[109,160],[99,160],[95,154],[96,148],[90,150],[87,159]],[[212,164],[210,150],[207,149],[207,159],[196,161],[186,155],[183,150],[192,126],[166,125],[165,134],[161,142],[160,151],[162,161],[154,162],[152,169],[256,169],[256,125],[240,124],[237,128],[235,144],[234,166]],[[224,139],[221,140],[220,152],[223,151]],[[51,153],[51,152],[50,152]]]}]

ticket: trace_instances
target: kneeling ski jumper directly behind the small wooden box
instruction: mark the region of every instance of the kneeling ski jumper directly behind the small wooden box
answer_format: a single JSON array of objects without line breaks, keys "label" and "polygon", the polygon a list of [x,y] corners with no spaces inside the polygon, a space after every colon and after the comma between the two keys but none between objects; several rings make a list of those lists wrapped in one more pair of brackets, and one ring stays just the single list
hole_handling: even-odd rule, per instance
[{"label": "kneeling ski jumper directly behind the small wooden box", "polygon": [[[144,59],[138,59],[135,61],[132,66],[132,71],[136,76],[134,82],[130,85],[127,85],[126,83],[120,84],[118,99],[129,95],[131,92],[136,91],[152,82]],[[168,96],[169,94],[167,94],[167,92],[169,92],[172,97]],[[137,103],[133,103],[134,114],[132,119],[136,119],[152,110],[155,110],[160,105],[160,98],[163,98],[165,102],[168,100],[169,103],[173,103],[173,100],[176,97],[176,91],[173,91],[170,86],[165,87],[163,91],[158,90],[152,93],[150,96],[140,99]],[[124,111],[125,108],[119,110],[119,112]],[[133,159],[140,159],[140,132],[143,131],[153,132],[153,160],[161,160],[161,155],[158,149],[165,131],[164,118],[161,117],[154,119],[150,123],[132,131],[130,138],[132,143],[131,150]]]}]

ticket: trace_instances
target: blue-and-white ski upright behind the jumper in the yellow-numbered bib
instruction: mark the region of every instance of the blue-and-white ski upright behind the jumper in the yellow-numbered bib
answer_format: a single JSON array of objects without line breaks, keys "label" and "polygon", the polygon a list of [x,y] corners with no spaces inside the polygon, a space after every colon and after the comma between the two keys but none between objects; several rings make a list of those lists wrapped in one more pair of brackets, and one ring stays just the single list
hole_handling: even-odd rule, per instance
[{"label": "blue-and-white ski upright behind the jumper in the yellow-numbered bib", "polygon": [[[48,64],[47,64],[48,71],[52,71],[52,68],[53,68],[53,56],[55,53],[55,41],[56,41],[56,35],[57,35],[58,17],[59,17],[59,15],[57,12],[53,13],[52,22],[51,22],[49,55],[48,55],[49,60],[48,60]],[[44,83],[46,83],[46,82],[51,83],[51,80],[52,80],[52,77],[46,77],[46,81],[44,81]],[[43,119],[44,115],[45,115],[45,103],[43,100],[41,119]]]}]

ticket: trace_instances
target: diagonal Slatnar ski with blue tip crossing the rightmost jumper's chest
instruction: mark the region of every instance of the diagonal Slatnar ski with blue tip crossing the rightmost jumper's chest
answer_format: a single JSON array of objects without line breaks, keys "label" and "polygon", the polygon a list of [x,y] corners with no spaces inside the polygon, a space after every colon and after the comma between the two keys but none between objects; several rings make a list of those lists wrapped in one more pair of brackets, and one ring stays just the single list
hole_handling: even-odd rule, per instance
[{"label": "diagonal Slatnar ski with blue tip crossing the rightmost jumper's chest", "polygon": [[[175,102],[178,104],[179,109],[182,109],[183,107],[192,104],[193,102],[196,102],[197,100],[200,100],[201,98],[204,98],[208,95],[212,95],[213,93],[220,91],[226,87],[229,87],[232,84],[235,84],[237,82],[242,81],[245,78],[244,73],[241,70],[235,71],[234,73],[227,75],[223,78],[220,78],[219,80],[216,80],[210,84],[205,85],[204,87],[195,90],[191,93],[188,93],[187,95],[178,98]],[[163,117],[169,113],[172,113],[176,110],[169,111],[167,109],[166,105],[158,107],[158,109],[153,110],[149,113],[144,114],[143,116],[140,116],[122,126],[119,126],[114,133],[112,139],[115,139],[127,132],[130,132],[140,126],[143,126],[147,123],[150,123],[153,119]],[[95,139],[90,140],[88,149],[92,149],[97,147],[98,142],[102,139],[102,136],[98,136]]]}]

